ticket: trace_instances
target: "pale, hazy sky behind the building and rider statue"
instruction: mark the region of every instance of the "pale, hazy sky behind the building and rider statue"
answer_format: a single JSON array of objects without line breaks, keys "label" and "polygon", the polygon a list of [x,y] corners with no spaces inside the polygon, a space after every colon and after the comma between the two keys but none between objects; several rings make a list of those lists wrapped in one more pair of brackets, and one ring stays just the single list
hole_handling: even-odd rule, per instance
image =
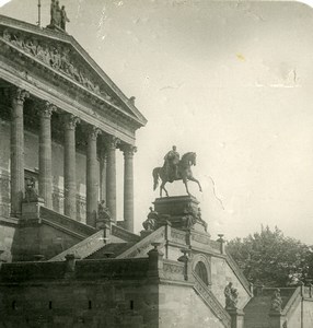
[{"label": "pale, hazy sky behind the building and rider statue", "polygon": [[[1,14],[35,23],[36,0]],[[43,25],[49,0],[42,0]],[[277,225],[313,244],[313,10],[298,2],[68,0],[68,32],[136,105],[136,227],[151,171],[176,144],[213,238]],[[119,154],[121,181],[121,154]],[[121,203],[121,187],[118,201]],[[182,183],[169,186],[184,192]],[[121,216],[123,211],[119,211]]]}]

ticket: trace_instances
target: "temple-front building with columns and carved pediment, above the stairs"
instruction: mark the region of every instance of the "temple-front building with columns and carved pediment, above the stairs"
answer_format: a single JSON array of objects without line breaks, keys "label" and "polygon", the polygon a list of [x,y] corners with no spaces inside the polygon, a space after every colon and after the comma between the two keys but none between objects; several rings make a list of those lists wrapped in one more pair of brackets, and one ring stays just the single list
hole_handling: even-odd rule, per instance
[{"label": "temple-front building with columns and carved pediment, above the stairs", "polygon": [[76,39],[0,17],[0,215],[19,219],[33,177],[46,208],[95,226],[116,221],[116,152],[124,154],[124,226],[134,229],[136,130],[147,120]]}]

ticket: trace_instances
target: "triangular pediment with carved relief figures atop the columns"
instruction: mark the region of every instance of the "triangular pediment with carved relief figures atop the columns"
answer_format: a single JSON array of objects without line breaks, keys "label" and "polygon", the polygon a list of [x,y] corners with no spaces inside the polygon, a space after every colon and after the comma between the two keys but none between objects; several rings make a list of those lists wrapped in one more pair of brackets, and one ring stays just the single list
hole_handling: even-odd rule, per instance
[{"label": "triangular pediment with carved relief figures atop the columns", "polygon": [[72,36],[0,15],[0,40],[23,52],[30,60],[79,84],[95,98],[136,120],[139,126],[146,125],[146,118],[132,99],[123,94]]}]

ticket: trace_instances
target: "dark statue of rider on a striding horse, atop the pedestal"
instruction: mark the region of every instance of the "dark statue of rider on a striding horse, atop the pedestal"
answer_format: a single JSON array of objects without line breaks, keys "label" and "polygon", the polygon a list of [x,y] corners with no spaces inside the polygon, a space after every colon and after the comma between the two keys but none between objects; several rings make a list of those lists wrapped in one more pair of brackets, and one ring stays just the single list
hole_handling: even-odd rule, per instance
[{"label": "dark statue of rider on a striding horse, atop the pedestal", "polygon": [[192,166],[196,165],[196,153],[188,152],[182,156],[179,160],[179,154],[176,150],[176,145],[173,145],[172,150],[167,152],[164,156],[164,165],[163,167],[155,167],[152,172],[153,175],[153,190],[158,188],[159,178],[161,178],[162,184],[160,185],[160,197],[162,197],[162,190],[165,191],[166,197],[169,197],[169,192],[165,189],[166,183],[173,183],[176,180],[183,180],[186,192],[190,195],[187,186],[187,181],[194,181],[198,184],[199,190],[202,191],[200,183],[194,178]]}]

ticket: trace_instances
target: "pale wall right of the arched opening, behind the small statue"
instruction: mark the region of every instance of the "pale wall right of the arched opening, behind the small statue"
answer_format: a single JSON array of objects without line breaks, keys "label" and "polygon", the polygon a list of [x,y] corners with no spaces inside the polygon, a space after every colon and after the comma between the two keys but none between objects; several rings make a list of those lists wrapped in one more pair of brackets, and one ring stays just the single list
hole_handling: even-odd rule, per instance
[{"label": "pale wall right of the arched opening, behind the small statue", "polygon": [[211,257],[211,290],[222,305],[225,304],[224,288],[229,282],[237,289],[239,308],[243,308],[251,298],[250,294],[224,258]]}]

